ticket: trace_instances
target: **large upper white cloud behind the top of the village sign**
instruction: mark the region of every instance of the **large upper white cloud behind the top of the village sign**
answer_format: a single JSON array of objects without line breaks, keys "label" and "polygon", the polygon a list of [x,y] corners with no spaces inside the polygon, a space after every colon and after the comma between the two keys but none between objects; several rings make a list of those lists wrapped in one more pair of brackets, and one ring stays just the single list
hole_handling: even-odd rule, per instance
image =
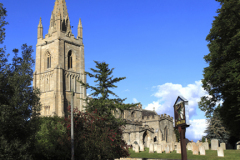
[{"label": "large upper white cloud behind the top of the village sign", "polygon": [[183,87],[181,84],[165,83],[163,85],[158,85],[153,87],[157,89],[157,92],[152,96],[158,98],[157,101],[153,101],[148,104],[145,109],[155,110],[158,114],[168,114],[173,115],[173,105],[177,99],[177,96],[182,95],[188,100],[189,118],[196,115],[196,108],[198,107],[198,102],[202,96],[207,95],[207,92],[202,88],[201,81],[195,81],[194,84],[189,84]]}]

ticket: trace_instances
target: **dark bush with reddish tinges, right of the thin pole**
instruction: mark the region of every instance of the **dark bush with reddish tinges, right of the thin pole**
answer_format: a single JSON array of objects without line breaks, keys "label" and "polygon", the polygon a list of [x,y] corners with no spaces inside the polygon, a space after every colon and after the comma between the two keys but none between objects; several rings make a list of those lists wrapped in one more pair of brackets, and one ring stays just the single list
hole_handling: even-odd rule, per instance
[{"label": "dark bush with reddish tinges, right of the thin pole", "polygon": [[[70,112],[70,107],[68,110]],[[92,113],[83,113],[74,109],[75,159],[113,160],[113,158],[129,156],[127,145],[120,136],[122,130],[114,131],[106,127],[106,117],[107,115],[100,116],[97,109]],[[71,140],[70,120],[71,117],[66,118],[68,142]]]}]

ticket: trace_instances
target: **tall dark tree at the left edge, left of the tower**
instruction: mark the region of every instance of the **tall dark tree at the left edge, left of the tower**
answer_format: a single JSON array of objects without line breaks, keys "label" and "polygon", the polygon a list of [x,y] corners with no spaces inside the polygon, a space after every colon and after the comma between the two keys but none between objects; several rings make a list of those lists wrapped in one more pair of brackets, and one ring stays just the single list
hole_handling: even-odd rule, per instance
[{"label": "tall dark tree at the left edge, left of the tower", "polygon": [[[0,43],[5,39],[7,11],[0,3]],[[8,63],[5,46],[0,48],[0,159],[32,159],[37,111],[40,108],[38,90],[31,87],[34,60],[31,46],[22,46],[12,63]]]}]

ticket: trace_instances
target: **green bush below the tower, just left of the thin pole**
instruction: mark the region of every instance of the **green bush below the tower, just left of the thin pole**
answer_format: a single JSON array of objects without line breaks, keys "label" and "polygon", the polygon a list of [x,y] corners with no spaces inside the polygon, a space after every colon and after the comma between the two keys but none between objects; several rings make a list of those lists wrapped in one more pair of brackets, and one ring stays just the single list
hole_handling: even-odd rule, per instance
[{"label": "green bush below the tower, just left of the thin pole", "polygon": [[40,117],[35,135],[35,160],[70,159],[70,142],[67,142],[67,128],[64,118]]}]

